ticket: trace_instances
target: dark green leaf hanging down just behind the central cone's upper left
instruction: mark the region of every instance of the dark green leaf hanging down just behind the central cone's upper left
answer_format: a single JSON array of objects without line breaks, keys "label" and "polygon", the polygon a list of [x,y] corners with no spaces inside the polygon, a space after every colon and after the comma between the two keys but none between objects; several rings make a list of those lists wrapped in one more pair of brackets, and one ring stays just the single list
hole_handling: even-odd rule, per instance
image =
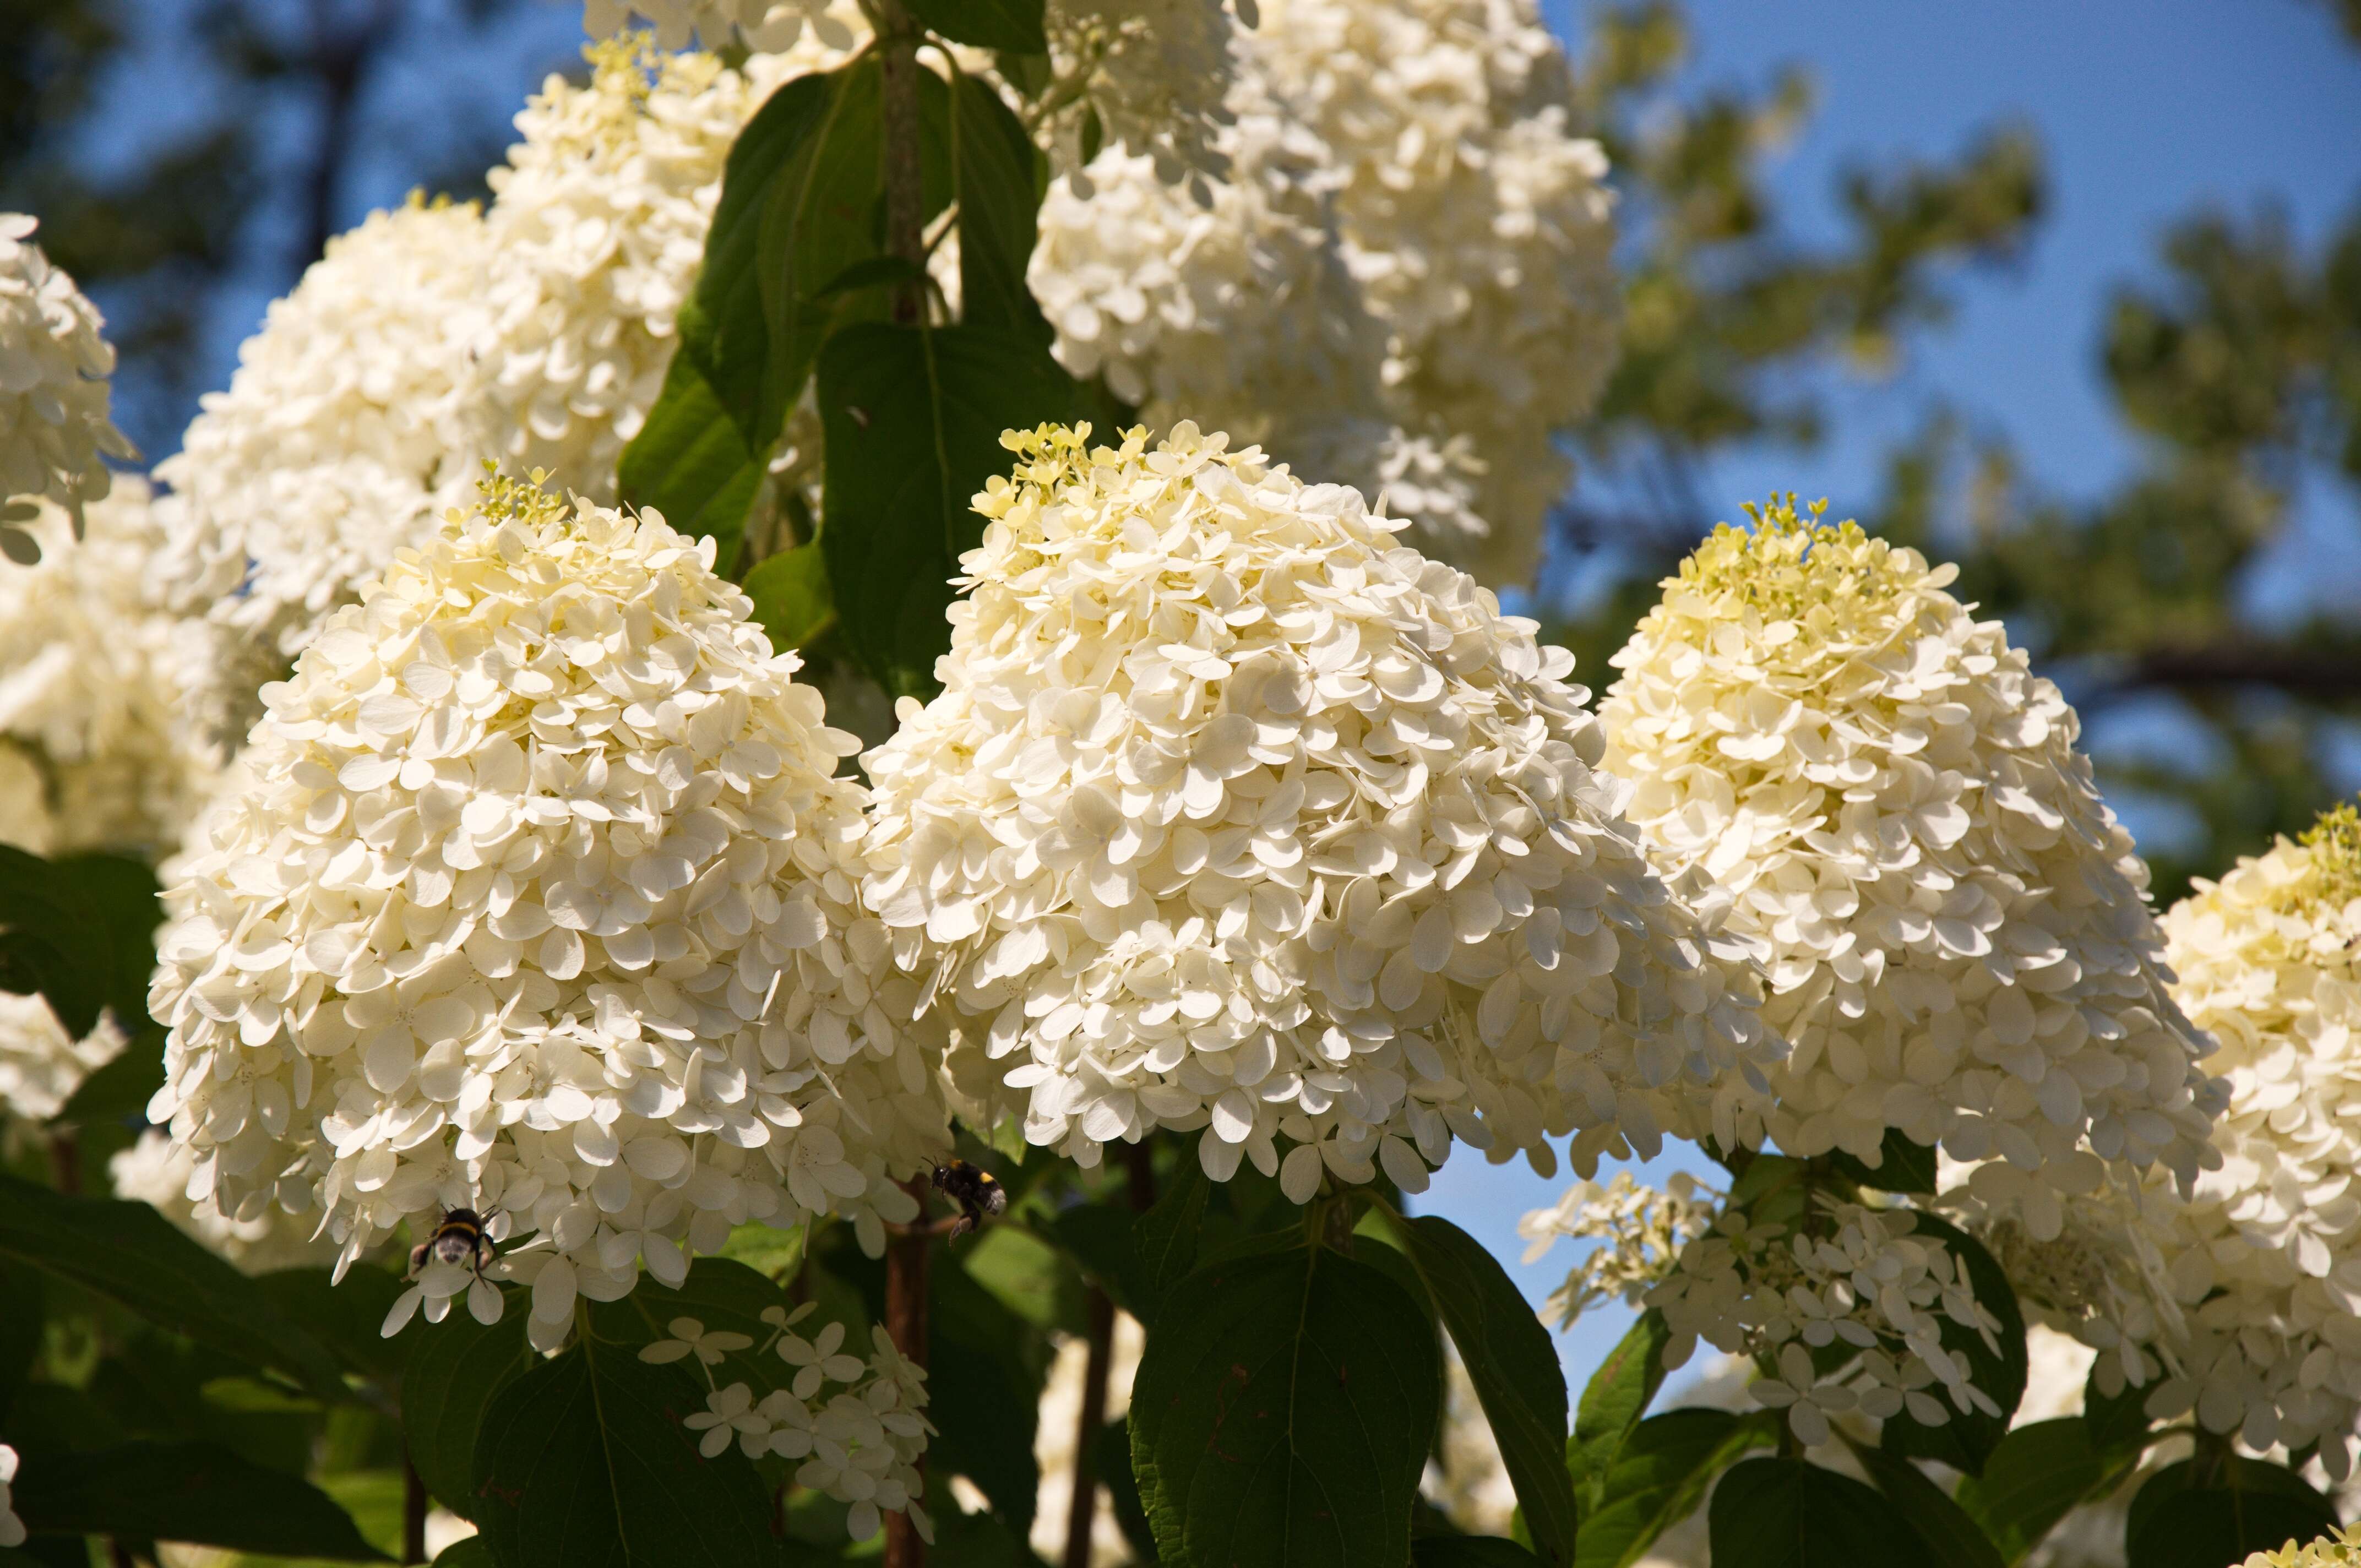
[{"label": "dark green leaf hanging down just behind the central cone's upper left", "polygon": [[1067,420],[1074,406],[1048,349],[1006,331],[859,324],[829,338],[819,545],[845,640],[888,692],[935,690],[935,659],[951,647],[949,579],[982,541],[970,501],[1011,465],[1001,432]]}]

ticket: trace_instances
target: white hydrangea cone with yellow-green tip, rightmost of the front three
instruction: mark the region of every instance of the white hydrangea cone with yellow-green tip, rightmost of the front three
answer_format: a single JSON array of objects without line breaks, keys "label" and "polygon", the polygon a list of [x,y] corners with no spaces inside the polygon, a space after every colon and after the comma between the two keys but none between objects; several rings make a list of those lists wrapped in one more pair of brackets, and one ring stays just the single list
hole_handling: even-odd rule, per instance
[{"label": "white hydrangea cone with yellow-green tip, rightmost of the front three", "polygon": [[1792,503],[1719,527],[1601,706],[1605,767],[1667,874],[1735,897],[1794,1053],[1771,1136],[1877,1162],[1886,1129],[1988,1202],[2097,1193],[2101,1162],[2217,1159],[2212,1046],[2165,992],[2146,867],[2078,720],[1915,550]]}]

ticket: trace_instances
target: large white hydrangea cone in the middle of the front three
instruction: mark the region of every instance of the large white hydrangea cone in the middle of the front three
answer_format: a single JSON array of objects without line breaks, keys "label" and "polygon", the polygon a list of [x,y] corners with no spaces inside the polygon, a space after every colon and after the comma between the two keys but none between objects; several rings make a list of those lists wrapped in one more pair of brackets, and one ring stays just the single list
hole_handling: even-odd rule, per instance
[{"label": "large white hydrangea cone in the middle of the front three", "polygon": [[1350,489],[1188,423],[1086,437],[1003,437],[944,692],[864,758],[864,897],[982,1119],[1084,1164],[1204,1129],[1216,1181],[1296,1202],[1421,1190],[1454,1136],[1577,1133],[1584,1171],[1742,1138],[1778,1044],[1591,767],[1568,654]]}]

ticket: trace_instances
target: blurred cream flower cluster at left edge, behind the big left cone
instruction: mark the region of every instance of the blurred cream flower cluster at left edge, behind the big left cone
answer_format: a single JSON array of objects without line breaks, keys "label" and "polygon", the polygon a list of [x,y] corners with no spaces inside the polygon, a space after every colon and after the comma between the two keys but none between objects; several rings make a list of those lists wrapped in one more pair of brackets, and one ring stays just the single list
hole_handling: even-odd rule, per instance
[{"label": "blurred cream flower cluster at left edge, behind the big left cone", "polygon": [[142,597],[161,541],[144,479],[118,479],[71,543],[33,503],[40,562],[0,571],[0,843],[35,855],[158,852],[203,805],[217,760],[182,713],[205,638]]}]

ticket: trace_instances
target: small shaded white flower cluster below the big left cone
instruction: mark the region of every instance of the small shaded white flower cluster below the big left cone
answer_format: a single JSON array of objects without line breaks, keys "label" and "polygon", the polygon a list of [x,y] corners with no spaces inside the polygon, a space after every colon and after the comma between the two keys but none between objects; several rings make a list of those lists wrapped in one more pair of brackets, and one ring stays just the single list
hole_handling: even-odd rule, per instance
[{"label": "small shaded white flower cluster below the big left cone", "polygon": [[673,1337],[642,1348],[640,1360],[696,1360],[711,1393],[706,1407],[680,1424],[704,1433],[696,1445],[708,1459],[732,1443],[748,1459],[803,1459],[796,1485],[852,1504],[845,1514],[852,1540],[874,1537],[883,1514],[907,1514],[918,1537],[933,1542],[935,1521],[918,1502],[926,1492],[918,1459],[935,1433],[926,1419],[926,1367],[902,1355],[883,1327],[869,1329],[869,1360],[845,1351],[843,1322],[805,1339],[796,1325],[815,1311],[810,1301],[793,1313],[763,1311],[772,1334],[756,1355],[777,1355],[791,1367],[786,1386],[763,1396],[746,1381],[713,1377],[713,1367],[732,1351],[753,1348],[753,1339],[706,1332],[696,1318],[673,1318],[666,1325]]}]

